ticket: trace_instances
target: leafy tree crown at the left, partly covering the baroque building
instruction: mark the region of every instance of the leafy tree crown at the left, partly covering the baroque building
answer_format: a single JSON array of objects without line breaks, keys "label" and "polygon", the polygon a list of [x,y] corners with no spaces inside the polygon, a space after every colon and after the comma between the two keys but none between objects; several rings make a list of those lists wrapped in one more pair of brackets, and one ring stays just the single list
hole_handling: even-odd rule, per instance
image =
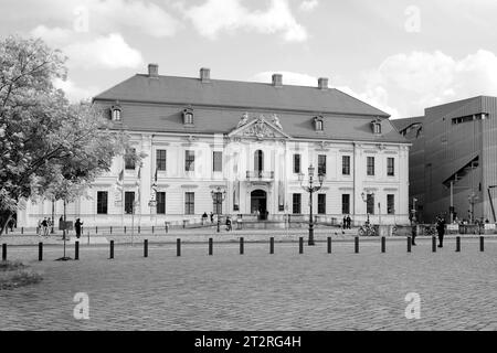
[{"label": "leafy tree crown at the left, partly covering the baroque building", "polygon": [[102,111],[53,86],[65,60],[41,40],[0,41],[0,235],[22,201],[72,201],[128,148]]}]

